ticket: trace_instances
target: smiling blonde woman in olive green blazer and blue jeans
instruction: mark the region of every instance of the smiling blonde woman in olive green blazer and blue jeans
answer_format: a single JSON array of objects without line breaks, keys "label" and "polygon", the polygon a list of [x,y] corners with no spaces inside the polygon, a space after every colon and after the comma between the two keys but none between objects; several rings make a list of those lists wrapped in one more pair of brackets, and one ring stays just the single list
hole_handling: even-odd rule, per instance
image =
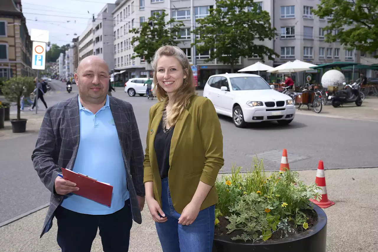
[{"label": "smiling blonde woman in olive green blazer and blue jeans", "polygon": [[215,108],[195,95],[193,73],[178,47],[160,47],[152,62],[159,103],[150,109],[144,158],[146,200],[163,252],[211,252],[214,187],[224,164]]}]

